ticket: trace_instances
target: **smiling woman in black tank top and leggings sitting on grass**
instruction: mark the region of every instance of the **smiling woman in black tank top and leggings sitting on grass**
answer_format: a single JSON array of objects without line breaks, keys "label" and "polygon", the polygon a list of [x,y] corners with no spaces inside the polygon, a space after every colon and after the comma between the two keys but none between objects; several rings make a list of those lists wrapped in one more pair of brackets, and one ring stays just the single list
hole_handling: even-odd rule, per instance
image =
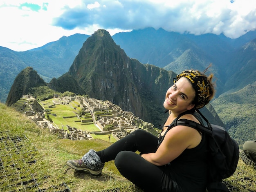
[{"label": "smiling woman in black tank top and leggings sitting on grass", "polygon": [[115,160],[119,172],[144,191],[205,192],[204,134],[183,125],[167,128],[178,116],[202,123],[195,109],[213,98],[212,78],[213,75],[207,77],[199,71],[187,70],[174,79],[174,85],[166,92],[164,107],[169,116],[159,138],[137,129],[105,150],[90,150],[80,160],[67,161],[67,165],[98,175],[105,162]]}]

